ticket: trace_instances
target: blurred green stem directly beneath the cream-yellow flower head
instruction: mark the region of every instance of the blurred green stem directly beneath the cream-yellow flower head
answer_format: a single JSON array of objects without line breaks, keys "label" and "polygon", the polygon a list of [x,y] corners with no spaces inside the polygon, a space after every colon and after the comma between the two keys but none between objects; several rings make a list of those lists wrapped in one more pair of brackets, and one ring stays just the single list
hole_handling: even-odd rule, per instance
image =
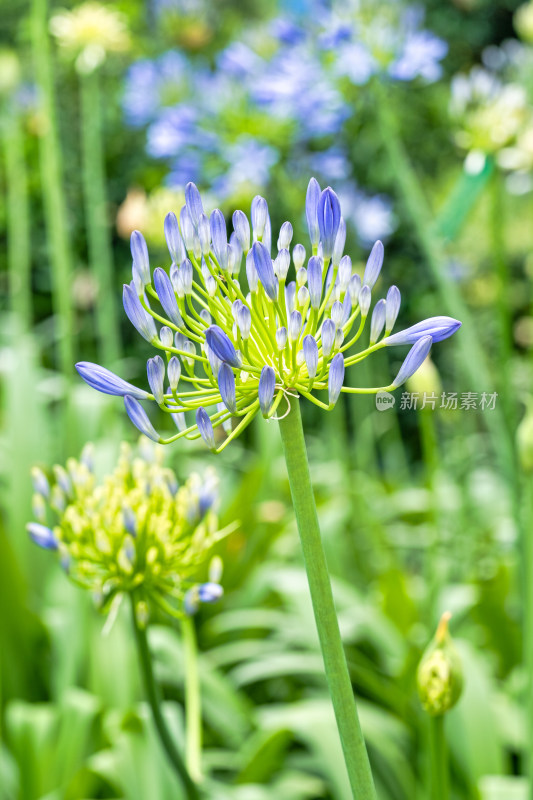
[{"label": "blurred green stem directly beneath the cream-yellow flower head", "polygon": [[91,271],[98,282],[96,329],[106,364],[120,357],[120,333],[113,281],[102,144],[98,70],[80,75],[83,191]]}]

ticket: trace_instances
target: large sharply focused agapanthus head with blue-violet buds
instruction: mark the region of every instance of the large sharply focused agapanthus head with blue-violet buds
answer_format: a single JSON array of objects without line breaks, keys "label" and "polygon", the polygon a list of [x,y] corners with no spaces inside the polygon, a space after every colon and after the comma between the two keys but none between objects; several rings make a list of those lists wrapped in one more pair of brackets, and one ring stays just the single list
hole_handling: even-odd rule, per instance
[{"label": "large sharply focused agapanthus head with blue-violet buds", "polygon": [[[148,273],[124,287],[132,324],[159,352],[148,360],[151,391],[135,389],[96,364],[77,365],[93,388],[124,396],[130,419],[151,439],[168,443],[201,437],[219,452],[258,412],[275,418],[280,405],[279,413],[285,413],[298,396],[329,410],[342,392],[395,389],[418,369],[434,342],[460,327],[450,317],[432,317],[392,334],[400,310],[398,288],[391,286],[385,297],[376,298],[371,311],[383,245],[376,242],[361,278],[343,254],[346,231],[339,199],[330,187],[322,191],[314,178],[305,203],[308,258],[304,245],[292,243],[289,222],[272,237],[263,197],[252,201],[251,224],[243,211],[234,212],[235,232],[230,237],[218,210],[211,214],[209,226],[204,225],[196,187],[189,185],[185,198],[178,215],[180,230],[169,241],[168,273],[157,267],[150,279],[148,256],[134,233],[134,271],[140,260],[143,273]],[[175,263],[178,236],[186,250],[181,264]],[[272,252],[273,241],[277,253]],[[160,308],[152,309],[155,303]],[[159,330],[156,321],[162,324]],[[367,321],[369,344],[354,352]],[[347,366],[395,345],[410,345],[411,351],[392,383],[387,379],[373,388],[344,385]],[[155,400],[178,432],[161,436],[142,400]]]}]

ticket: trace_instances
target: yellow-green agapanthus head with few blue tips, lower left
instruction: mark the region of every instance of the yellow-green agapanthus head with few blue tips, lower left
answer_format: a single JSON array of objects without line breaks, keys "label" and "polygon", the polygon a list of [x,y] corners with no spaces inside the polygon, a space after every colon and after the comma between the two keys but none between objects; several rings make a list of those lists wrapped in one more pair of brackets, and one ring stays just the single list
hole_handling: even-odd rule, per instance
[{"label": "yellow-green agapanthus head with few blue tips, lower left", "polygon": [[35,468],[39,521],[27,526],[28,533],[40,547],[58,552],[69,577],[89,589],[103,610],[135,593],[137,602],[179,616],[190,613],[191,592],[198,602],[222,595],[218,557],[207,583],[206,567],[213,546],[232,528],[218,526],[214,471],[180,485],[163,464],[163,449],[141,442],[138,452],[123,444],[115,469],[102,481],[88,447],[79,461],[54,467],[53,481]]}]

